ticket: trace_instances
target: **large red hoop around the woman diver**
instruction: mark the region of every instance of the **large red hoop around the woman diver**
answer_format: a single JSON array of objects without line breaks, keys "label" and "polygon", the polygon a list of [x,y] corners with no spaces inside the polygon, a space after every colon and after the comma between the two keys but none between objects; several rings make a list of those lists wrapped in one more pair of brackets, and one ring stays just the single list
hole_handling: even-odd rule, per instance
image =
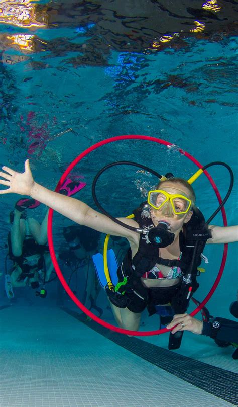
[{"label": "large red hoop around the woman diver", "polygon": [[[159,138],[156,137],[151,137],[151,136],[143,136],[143,135],[137,135],[137,134],[130,134],[130,135],[123,135],[123,136],[116,136],[116,137],[110,137],[107,138],[106,140],[102,140],[99,141],[98,143],[92,145],[91,147],[87,148],[85,151],[83,151],[81,154],[79,154],[77,156],[77,158],[75,158],[71,164],[68,166],[68,168],[65,170],[64,174],[62,175],[62,177],[60,178],[55,192],[58,192],[60,187],[62,186],[64,180],[66,179],[66,177],[68,176],[68,174],[70,173],[70,171],[78,164],[78,162],[85,157],[86,155],[88,155],[91,151],[101,147],[102,145],[105,144],[109,144],[111,142],[114,141],[120,141],[120,140],[147,140],[147,141],[154,141],[156,143],[159,144],[163,144],[166,146],[171,146],[173,145],[172,143],[169,143],[168,141],[164,141],[161,140]],[[189,153],[187,153],[186,151],[182,150],[181,148],[178,150],[182,155],[185,155],[187,158],[189,158],[198,168],[202,168],[203,166],[200,164],[200,162],[198,162],[192,155],[190,155]],[[218,202],[219,204],[221,203],[221,196],[220,193],[213,181],[213,179],[211,178],[211,176],[209,175],[209,173],[205,170],[204,174],[206,175],[206,177],[208,178],[212,188],[215,191],[215,194],[217,196]],[[126,330],[126,329],[122,329],[122,328],[118,328],[115,327],[114,325],[111,325],[110,323],[107,323],[105,321],[103,321],[101,318],[98,318],[96,315],[94,315],[91,311],[89,311],[79,300],[78,298],[74,295],[74,293],[71,291],[71,289],[69,288],[67,282],[65,281],[63,274],[60,270],[60,267],[58,265],[58,261],[56,259],[56,255],[55,255],[55,250],[54,250],[54,244],[53,244],[53,235],[52,235],[52,220],[53,220],[53,209],[50,208],[49,210],[49,217],[48,217],[48,225],[47,225],[47,231],[48,231],[48,242],[49,242],[49,249],[50,249],[50,255],[51,255],[51,259],[55,268],[55,271],[60,279],[61,284],[63,285],[65,291],[68,293],[68,295],[70,296],[70,298],[73,300],[73,302],[90,318],[92,318],[95,322],[100,323],[101,325],[103,325],[103,327],[108,328],[112,331],[118,332],[120,334],[126,334],[126,335],[134,335],[134,336],[149,336],[149,335],[158,335],[158,334],[164,334],[165,332],[169,332],[172,330],[168,330],[167,328],[163,328],[161,330],[155,330],[155,331],[145,331],[145,332],[141,332],[141,331],[130,331],[130,330]],[[226,213],[225,213],[225,209],[224,207],[221,209],[221,213],[222,213],[222,219],[223,219],[223,225],[227,226],[227,220],[226,220]],[[226,257],[227,257],[227,243],[224,245],[224,250],[223,250],[223,256],[222,256],[222,260],[221,260],[221,265],[220,265],[220,269],[219,272],[217,274],[217,277],[215,279],[215,282],[210,290],[210,292],[207,294],[207,296],[205,297],[205,299],[201,302],[201,304],[193,311],[191,312],[191,316],[196,315],[202,308],[203,306],[207,303],[207,301],[211,298],[212,294],[214,293],[224,270],[224,266],[225,266],[225,261],[226,261]]]}]

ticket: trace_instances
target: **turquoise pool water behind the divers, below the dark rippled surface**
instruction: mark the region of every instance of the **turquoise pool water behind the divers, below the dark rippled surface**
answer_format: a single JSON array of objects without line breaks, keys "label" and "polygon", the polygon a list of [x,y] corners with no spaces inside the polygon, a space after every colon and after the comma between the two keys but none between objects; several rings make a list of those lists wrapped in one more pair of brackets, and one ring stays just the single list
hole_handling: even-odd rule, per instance
[{"label": "turquoise pool water behind the divers, below the dark rippled surface", "polygon": [[[51,4],[53,9],[55,5]],[[65,21],[67,16],[65,13]],[[172,171],[176,176],[189,178],[196,167],[178,152],[182,148],[202,165],[225,161],[232,167],[235,185],[225,209],[228,224],[236,224],[237,38],[234,33],[219,38],[214,33],[200,37],[187,33],[183,40],[175,38],[158,50],[152,48],[153,30],[150,33],[141,27],[144,43],[129,37],[125,42],[125,33],[116,42],[116,33],[112,35],[109,29],[101,28],[106,19],[92,21],[91,14],[80,19],[83,20],[80,24],[73,24],[69,18],[67,23],[62,22],[64,19],[56,22],[55,27],[51,21],[47,27],[31,30],[1,25],[1,164],[23,171],[24,160],[30,158],[36,181],[54,189],[68,164],[92,144],[123,134],[154,136],[174,146],[121,141],[83,159],[72,174],[84,177],[87,183],[77,197],[94,207],[92,180],[101,167],[115,160],[134,160],[162,174]],[[192,27],[192,20],[190,23]],[[101,31],[95,31],[98,27]],[[156,38],[171,32],[164,29],[158,34],[157,30]],[[20,34],[28,36],[24,37],[25,42],[22,39],[25,44],[22,47],[16,37]],[[228,173],[214,167],[210,174],[224,197],[229,185]],[[123,167],[102,177],[98,197],[112,214],[125,216],[143,200],[140,187],[146,190],[153,185],[150,177]],[[194,188],[198,206],[207,219],[217,207],[214,191],[205,176],[196,181]],[[17,197],[5,195],[0,199],[4,214],[1,252],[5,258],[10,229],[8,213]],[[40,221],[44,211],[40,206],[34,216]],[[70,223],[59,215],[54,217],[56,251],[64,242],[63,226]],[[222,225],[220,214],[213,223]],[[221,283],[208,304],[212,314],[229,317],[229,303],[235,300],[238,287],[236,253],[237,243],[233,243]],[[200,301],[217,275],[222,246],[207,247],[205,255],[209,264],[199,279],[196,297]],[[49,291],[55,301],[58,285],[55,283]],[[1,295],[5,303],[4,290]],[[105,307],[105,300],[101,301]]]}]

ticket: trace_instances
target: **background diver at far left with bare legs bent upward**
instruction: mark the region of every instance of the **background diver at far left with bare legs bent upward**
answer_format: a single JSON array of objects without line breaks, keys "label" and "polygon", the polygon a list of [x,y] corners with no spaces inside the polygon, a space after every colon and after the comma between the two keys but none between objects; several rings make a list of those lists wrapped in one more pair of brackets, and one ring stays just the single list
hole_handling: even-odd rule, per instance
[{"label": "background diver at far left with bare legs bent upward", "polygon": [[[8,234],[10,260],[14,266],[7,275],[11,288],[29,286],[39,288],[39,281],[48,282],[54,269],[47,243],[48,212],[40,224],[34,218],[26,218],[26,208],[34,209],[40,202],[34,199],[20,199],[10,213],[11,231]],[[8,290],[7,296],[11,295]]]}]

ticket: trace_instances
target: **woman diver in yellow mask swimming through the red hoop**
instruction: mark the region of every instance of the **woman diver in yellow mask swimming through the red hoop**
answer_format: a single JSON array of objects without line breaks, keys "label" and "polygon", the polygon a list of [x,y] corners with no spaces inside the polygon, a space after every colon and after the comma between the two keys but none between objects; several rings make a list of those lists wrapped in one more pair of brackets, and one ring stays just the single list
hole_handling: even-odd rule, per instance
[{"label": "woman diver in yellow mask swimming through the red hoop", "polygon": [[[138,330],[141,312],[147,306],[150,313],[153,313],[155,305],[170,302],[176,313],[182,313],[174,299],[179,294],[184,274],[183,267],[188,262],[188,256],[181,262],[181,267],[177,265],[180,265],[179,259],[183,259],[184,247],[186,246],[186,251],[189,250],[189,244],[184,245],[184,241],[187,241],[186,234],[188,234],[186,225],[192,219],[193,213],[198,211],[195,207],[194,191],[187,181],[180,178],[161,181],[157,187],[158,189],[149,192],[149,206],[139,208],[134,212],[135,220],[117,218],[124,224],[132,226],[132,228],[139,228],[141,227],[140,223],[145,222],[149,226],[151,225],[152,232],[156,227],[164,230],[167,243],[166,246],[158,249],[158,247],[152,247],[152,245],[148,244],[148,236],[115,223],[109,217],[95,211],[82,201],[62,196],[37,184],[32,177],[29,160],[25,162],[25,172],[23,174],[8,167],[3,167],[0,177],[2,178],[0,184],[8,187],[1,190],[1,194],[13,192],[20,195],[29,195],[78,224],[88,226],[102,233],[125,237],[129,241],[130,250],[118,269],[119,281],[122,283],[118,291],[120,292],[120,288],[126,291],[126,302],[123,304],[118,302],[117,298],[109,293],[115,319],[121,328]],[[237,236],[238,226],[219,227],[209,225],[204,245],[205,242],[233,242],[237,240]],[[198,284],[193,279],[191,295],[197,287]],[[120,295],[119,293],[116,294]],[[122,295],[121,297],[124,298]]]}]

